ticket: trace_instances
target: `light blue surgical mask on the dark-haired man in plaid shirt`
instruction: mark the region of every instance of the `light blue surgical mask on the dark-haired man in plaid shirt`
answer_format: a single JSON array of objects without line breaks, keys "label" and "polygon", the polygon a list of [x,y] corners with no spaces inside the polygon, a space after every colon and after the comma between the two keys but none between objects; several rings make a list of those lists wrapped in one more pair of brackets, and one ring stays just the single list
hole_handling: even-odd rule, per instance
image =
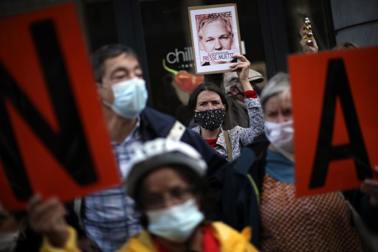
[{"label": "light blue surgical mask on the dark-haired man in plaid shirt", "polygon": [[113,84],[114,103],[103,100],[104,104],[120,116],[133,119],[137,117],[147,104],[146,82],[143,79],[135,77]]}]

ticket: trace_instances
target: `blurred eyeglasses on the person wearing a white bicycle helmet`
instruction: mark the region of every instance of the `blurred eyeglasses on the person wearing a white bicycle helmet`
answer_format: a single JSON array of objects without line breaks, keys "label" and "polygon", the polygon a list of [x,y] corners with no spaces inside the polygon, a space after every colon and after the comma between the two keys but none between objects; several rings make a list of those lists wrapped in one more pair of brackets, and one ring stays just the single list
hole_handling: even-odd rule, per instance
[{"label": "blurred eyeglasses on the person wearing a white bicycle helmet", "polygon": [[164,194],[152,193],[146,195],[144,205],[148,209],[162,209],[168,201],[174,204],[183,203],[187,199],[194,197],[194,189],[195,186],[191,185],[186,189],[175,187]]}]

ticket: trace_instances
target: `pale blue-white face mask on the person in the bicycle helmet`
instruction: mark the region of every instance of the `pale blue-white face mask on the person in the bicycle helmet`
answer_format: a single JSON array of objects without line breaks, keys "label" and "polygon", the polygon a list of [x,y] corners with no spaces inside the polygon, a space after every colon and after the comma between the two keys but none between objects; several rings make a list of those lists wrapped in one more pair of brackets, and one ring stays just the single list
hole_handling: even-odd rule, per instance
[{"label": "pale blue-white face mask on the person in the bicycle helmet", "polygon": [[195,199],[166,209],[148,210],[148,230],[170,241],[186,241],[204,219]]}]

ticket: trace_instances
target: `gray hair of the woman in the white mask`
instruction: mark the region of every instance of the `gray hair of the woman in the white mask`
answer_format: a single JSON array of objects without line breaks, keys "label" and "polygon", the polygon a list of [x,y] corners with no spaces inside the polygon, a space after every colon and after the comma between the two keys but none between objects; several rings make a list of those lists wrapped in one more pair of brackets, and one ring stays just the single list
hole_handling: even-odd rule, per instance
[{"label": "gray hair of the woman in the white mask", "polygon": [[273,96],[276,96],[284,91],[290,92],[290,78],[287,73],[279,72],[273,76],[261,91],[260,101],[262,108],[265,103]]}]

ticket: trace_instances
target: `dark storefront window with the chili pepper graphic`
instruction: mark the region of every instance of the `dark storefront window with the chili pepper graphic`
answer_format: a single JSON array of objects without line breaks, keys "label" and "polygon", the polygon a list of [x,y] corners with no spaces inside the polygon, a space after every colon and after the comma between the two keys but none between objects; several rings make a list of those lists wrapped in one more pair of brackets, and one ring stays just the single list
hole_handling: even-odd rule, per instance
[{"label": "dark storefront window with the chili pepper graphic", "polygon": [[[251,68],[266,79],[265,54],[257,1],[234,1],[237,4],[240,36]],[[190,88],[185,78],[195,78],[188,7],[229,3],[229,1],[140,0],[153,104],[157,110],[175,116],[187,125],[192,113],[187,108]],[[166,67],[163,66],[165,61]],[[176,74],[181,72],[178,77]],[[183,76],[181,78],[180,76]],[[180,79],[181,78],[181,79]],[[259,84],[260,85],[260,84]],[[262,83],[264,85],[264,83]]]}]

